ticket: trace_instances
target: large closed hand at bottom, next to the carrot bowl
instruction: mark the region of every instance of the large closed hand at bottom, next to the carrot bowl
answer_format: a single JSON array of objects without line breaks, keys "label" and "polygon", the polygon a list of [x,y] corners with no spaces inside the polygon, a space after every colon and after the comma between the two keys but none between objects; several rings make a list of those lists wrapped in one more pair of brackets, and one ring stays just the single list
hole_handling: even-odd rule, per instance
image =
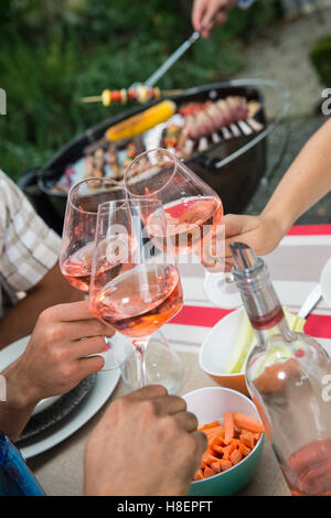
[{"label": "large closed hand at bottom, next to the carrot bowl", "polygon": [[185,495],[206,436],[185,401],[157,385],[114,401],[85,450],[85,495]]}]

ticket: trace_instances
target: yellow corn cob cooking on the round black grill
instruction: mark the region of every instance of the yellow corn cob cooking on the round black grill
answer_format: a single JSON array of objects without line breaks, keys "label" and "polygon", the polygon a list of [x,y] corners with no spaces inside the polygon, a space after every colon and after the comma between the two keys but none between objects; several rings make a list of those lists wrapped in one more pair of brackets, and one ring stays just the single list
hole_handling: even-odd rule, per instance
[{"label": "yellow corn cob cooking on the round black grill", "polygon": [[111,142],[130,139],[170,119],[175,109],[177,106],[172,100],[163,100],[140,114],[118,122],[118,125],[111,126],[106,131],[106,138]]}]

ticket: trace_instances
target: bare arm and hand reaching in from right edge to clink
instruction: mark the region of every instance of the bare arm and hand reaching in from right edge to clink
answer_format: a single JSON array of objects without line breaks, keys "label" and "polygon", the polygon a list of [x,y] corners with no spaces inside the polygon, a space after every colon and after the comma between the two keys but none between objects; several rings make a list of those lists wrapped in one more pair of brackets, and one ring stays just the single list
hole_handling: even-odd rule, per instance
[{"label": "bare arm and hand reaching in from right edge to clink", "polygon": [[[274,250],[293,223],[331,190],[331,120],[307,142],[287,170],[258,216],[224,217],[225,256],[229,267],[229,242],[243,241],[257,255]],[[228,268],[227,268],[228,269]]]}]

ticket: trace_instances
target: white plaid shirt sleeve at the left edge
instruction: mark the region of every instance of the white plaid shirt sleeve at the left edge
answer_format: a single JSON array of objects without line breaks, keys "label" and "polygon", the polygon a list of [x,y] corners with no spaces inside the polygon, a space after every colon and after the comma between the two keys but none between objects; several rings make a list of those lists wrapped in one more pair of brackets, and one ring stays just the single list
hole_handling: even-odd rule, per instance
[{"label": "white plaid shirt sleeve at the left edge", "polygon": [[0,171],[0,317],[54,267],[60,248],[60,237]]}]

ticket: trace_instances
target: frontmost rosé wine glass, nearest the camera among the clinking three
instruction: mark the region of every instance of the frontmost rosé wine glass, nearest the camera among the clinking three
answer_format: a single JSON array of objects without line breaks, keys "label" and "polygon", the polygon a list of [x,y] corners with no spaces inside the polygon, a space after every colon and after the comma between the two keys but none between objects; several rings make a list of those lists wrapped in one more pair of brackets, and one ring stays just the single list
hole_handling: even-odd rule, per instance
[{"label": "frontmost ros\u00e9 wine glass, nearest the camera among the clinking three", "polygon": [[[146,222],[153,220],[153,226]],[[146,384],[150,336],[183,305],[173,252],[154,245],[166,231],[162,204],[154,199],[103,203],[98,209],[89,302],[94,315],[125,335],[137,356],[138,388]],[[160,363],[162,379],[167,364]],[[166,385],[166,384],[164,384]]]}]

